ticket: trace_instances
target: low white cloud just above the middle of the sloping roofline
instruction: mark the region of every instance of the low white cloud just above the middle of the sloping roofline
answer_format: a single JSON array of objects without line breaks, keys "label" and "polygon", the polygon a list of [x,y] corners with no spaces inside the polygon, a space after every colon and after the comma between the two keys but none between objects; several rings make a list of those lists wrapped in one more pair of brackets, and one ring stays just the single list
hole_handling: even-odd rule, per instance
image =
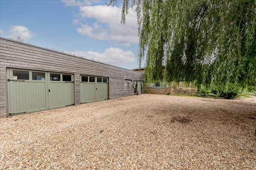
[{"label": "low white cloud just above the middle of the sloping roofline", "polygon": [[94,51],[74,51],[73,54],[77,56],[93,59],[94,61],[101,61],[112,65],[125,66],[135,61],[135,55],[132,51],[124,51],[120,48],[110,47],[105,49],[103,53]]}]

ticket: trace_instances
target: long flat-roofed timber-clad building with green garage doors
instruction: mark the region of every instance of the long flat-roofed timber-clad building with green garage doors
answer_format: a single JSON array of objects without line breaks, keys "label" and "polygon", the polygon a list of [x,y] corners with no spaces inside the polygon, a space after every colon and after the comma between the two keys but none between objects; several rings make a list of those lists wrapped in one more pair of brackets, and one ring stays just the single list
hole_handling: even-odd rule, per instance
[{"label": "long flat-roofed timber-clad building with green garage doors", "polygon": [[143,77],[133,70],[0,38],[0,116],[133,95],[135,84],[144,84]]}]

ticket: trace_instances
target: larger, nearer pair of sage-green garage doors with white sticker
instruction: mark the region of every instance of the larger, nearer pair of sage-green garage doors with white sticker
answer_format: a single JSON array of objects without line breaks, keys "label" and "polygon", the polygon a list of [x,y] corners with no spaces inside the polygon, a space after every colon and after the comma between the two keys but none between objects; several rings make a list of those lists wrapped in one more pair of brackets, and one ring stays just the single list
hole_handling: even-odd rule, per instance
[{"label": "larger, nearer pair of sage-green garage doors with white sticker", "polygon": [[74,75],[7,69],[9,114],[74,105]]}]

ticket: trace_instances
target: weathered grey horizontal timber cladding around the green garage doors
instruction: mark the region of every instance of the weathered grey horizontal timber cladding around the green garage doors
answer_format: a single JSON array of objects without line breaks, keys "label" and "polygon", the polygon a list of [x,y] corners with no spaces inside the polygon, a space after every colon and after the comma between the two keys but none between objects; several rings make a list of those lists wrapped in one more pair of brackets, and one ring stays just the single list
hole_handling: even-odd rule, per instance
[{"label": "weathered grey horizontal timber cladding around the green garage doors", "polygon": [[[134,94],[134,80],[144,74],[75,57],[30,44],[0,38],[0,116],[7,116],[7,68],[40,70],[74,75],[74,103],[80,104],[80,76],[108,77],[109,98]],[[132,83],[125,82],[132,80]]]}]

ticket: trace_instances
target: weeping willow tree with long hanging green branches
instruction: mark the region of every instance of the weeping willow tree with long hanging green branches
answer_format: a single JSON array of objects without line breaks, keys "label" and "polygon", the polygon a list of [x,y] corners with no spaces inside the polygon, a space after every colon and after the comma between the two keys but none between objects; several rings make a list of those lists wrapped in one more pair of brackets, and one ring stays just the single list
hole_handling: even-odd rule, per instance
[{"label": "weeping willow tree with long hanging green branches", "polygon": [[123,0],[121,24],[131,7],[147,82],[256,86],[256,0]]}]

